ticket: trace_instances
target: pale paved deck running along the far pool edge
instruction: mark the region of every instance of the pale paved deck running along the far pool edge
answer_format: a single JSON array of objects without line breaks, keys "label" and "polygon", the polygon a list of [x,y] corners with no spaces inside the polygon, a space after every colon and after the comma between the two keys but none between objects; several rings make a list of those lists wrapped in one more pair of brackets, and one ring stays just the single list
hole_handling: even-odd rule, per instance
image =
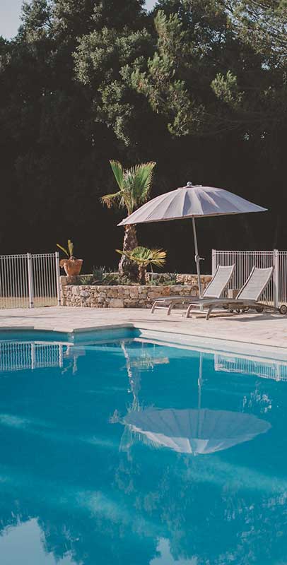
[{"label": "pale paved deck running along the far pool edge", "polygon": [[[230,349],[245,344],[254,350],[286,349],[287,316],[280,314],[253,314],[202,318],[182,317],[179,311],[167,316],[165,311],[151,314],[145,309],[95,309],[48,307],[35,309],[0,310],[0,329],[35,328],[37,330],[83,331],[100,328],[130,326],[150,332],[182,334],[199,340],[226,343]],[[159,334],[158,334],[159,335]],[[163,334],[162,334],[163,335]]]}]

